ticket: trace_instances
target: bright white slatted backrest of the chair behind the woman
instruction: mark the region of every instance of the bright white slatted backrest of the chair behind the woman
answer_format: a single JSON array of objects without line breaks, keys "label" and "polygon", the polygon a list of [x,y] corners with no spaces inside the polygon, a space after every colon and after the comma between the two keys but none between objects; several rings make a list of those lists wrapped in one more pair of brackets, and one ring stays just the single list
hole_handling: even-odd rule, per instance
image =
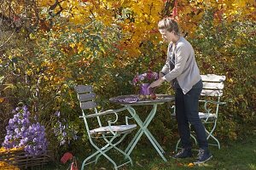
[{"label": "bright white slatted backrest of the chair behind the woman", "polygon": [[225,76],[218,76],[215,74],[201,75],[203,82],[202,96],[222,96],[224,89]]}]

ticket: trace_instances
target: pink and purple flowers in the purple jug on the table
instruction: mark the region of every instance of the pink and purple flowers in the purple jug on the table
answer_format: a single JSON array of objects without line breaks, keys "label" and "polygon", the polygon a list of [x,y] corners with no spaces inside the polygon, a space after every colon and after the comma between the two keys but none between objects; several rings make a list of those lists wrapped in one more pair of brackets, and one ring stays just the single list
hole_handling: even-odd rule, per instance
[{"label": "pink and purple flowers in the purple jug on the table", "polygon": [[140,86],[143,83],[151,83],[158,79],[158,73],[153,71],[148,71],[143,74],[137,74],[133,80],[132,85]]}]

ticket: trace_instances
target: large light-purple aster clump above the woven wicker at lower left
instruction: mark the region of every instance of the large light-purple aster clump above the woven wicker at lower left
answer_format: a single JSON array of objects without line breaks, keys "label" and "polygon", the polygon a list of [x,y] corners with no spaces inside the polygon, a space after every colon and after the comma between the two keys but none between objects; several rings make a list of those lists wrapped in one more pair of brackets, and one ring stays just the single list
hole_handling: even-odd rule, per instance
[{"label": "large light-purple aster clump above the woven wicker at lower left", "polygon": [[3,147],[7,150],[23,147],[27,155],[40,155],[47,149],[45,128],[39,122],[32,124],[29,121],[30,112],[27,106],[17,107],[14,117],[9,119],[6,127],[6,136]]}]

